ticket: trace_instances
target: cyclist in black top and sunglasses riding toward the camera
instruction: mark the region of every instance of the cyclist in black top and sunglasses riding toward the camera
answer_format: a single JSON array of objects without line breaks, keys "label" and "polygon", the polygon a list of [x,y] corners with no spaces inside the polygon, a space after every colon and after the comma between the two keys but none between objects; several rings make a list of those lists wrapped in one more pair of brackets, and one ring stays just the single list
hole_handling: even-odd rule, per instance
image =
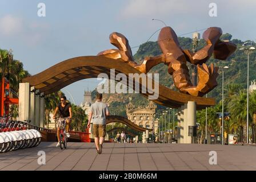
[{"label": "cyclist in black top and sunglasses riding toward the camera", "polygon": [[[58,106],[56,107],[54,114],[53,114],[53,119],[55,119],[55,115],[57,114],[57,111],[59,113],[59,117],[60,118],[66,118],[66,135],[69,138],[70,134],[69,134],[69,127],[70,127],[70,122],[71,122],[71,118],[72,118],[72,109],[71,109],[71,104],[70,102],[67,102],[67,98],[65,96],[61,97],[61,103],[58,104]],[[59,126],[58,126],[58,130],[57,130],[57,137],[58,137],[58,143],[56,145],[56,147],[58,147],[60,145],[59,143]]]}]

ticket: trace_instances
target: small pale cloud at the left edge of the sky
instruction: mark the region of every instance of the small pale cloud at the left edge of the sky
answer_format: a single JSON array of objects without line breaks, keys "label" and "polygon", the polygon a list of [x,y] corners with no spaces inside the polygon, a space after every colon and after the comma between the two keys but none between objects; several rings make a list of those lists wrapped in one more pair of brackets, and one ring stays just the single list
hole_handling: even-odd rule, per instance
[{"label": "small pale cloud at the left edge of the sky", "polygon": [[0,32],[4,35],[13,35],[21,32],[23,29],[23,20],[12,15],[0,18]]}]

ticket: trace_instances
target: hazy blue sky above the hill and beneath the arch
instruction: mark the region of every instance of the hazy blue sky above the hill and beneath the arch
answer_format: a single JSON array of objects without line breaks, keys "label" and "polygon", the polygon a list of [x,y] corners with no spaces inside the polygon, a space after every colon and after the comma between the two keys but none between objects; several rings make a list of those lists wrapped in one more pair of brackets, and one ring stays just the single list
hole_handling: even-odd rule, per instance
[{"label": "hazy blue sky above the hill and beneath the arch", "polygon": [[[37,15],[41,2],[46,5],[45,17]],[[209,16],[212,2],[217,5],[217,17]],[[217,26],[233,38],[255,41],[255,7],[254,0],[1,0],[0,48],[13,49],[14,59],[21,60],[35,75],[71,57],[114,48],[109,43],[109,34],[114,31],[125,35],[131,47],[139,46],[163,26],[152,18],[163,20],[177,35]],[[97,80],[88,79],[65,89],[80,104],[83,91],[96,86]],[[65,89],[62,91],[70,98]]]}]

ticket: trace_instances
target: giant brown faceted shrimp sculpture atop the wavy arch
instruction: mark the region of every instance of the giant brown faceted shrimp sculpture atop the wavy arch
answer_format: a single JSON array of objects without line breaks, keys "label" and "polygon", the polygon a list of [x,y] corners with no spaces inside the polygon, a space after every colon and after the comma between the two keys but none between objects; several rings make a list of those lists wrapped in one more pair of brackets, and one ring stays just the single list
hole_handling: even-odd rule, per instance
[{"label": "giant brown faceted shrimp sculpture atop the wavy arch", "polygon": [[[175,86],[180,92],[191,96],[203,96],[217,86],[218,67],[213,64],[208,67],[205,63],[213,54],[215,59],[226,60],[237,48],[230,42],[222,42],[219,38],[222,30],[219,27],[210,27],[203,32],[203,39],[207,45],[197,52],[189,49],[183,50],[179,46],[178,37],[171,27],[163,27],[158,36],[158,44],[162,55],[146,57],[142,64],[137,64],[131,53],[128,40],[122,34],[113,32],[110,34],[110,43],[118,49],[108,49],[99,52],[98,55],[119,59],[138,69],[142,73],[147,73],[155,65],[164,63],[168,66],[168,73],[173,76]],[[197,65],[198,84],[193,86],[190,80],[187,61]]]}]

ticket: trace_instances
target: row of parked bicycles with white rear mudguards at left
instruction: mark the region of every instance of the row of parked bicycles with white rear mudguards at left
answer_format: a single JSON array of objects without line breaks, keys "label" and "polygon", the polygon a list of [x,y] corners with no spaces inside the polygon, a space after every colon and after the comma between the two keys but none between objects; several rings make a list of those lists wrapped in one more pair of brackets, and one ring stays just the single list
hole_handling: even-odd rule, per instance
[{"label": "row of parked bicycles with white rear mudguards at left", "polygon": [[10,115],[0,117],[0,152],[36,147],[41,143],[41,133],[27,125],[30,121],[12,121]]}]

